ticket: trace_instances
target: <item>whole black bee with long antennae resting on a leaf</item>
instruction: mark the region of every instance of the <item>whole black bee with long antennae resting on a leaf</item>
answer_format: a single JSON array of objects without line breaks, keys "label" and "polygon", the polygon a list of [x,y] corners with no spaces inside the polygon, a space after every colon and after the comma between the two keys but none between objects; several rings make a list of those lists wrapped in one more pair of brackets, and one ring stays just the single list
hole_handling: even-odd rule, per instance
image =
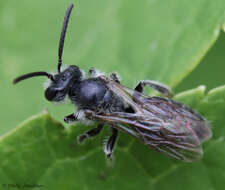
[{"label": "whole black bee with long antennae resting on a leaf", "polygon": [[[46,76],[50,84],[45,90],[45,98],[51,102],[61,102],[68,97],[77,111],[65,116],[71,123],[82,119],[97,121],[95,128],[78,136],[78,142],[96,136],[107,125],[112,135],[104,145],[107,158],[112,157],[118,131],[127,133],[151,149],[186,162],[199,160],[202,143],[208,140],[211,129],[207,120],[190,107],[176,102],[166,85],[143,80],[135,89],[120,84],[116,73],[106,76],[94,68],[89,77],[75,65],[61,70],[62,53],[68,21],[73,8],[71,4],[65,14],[58,47],[58,73],[32,72],[14,79],[16,84],[22,80]],[[143,93],[149,86],[163,97],[147,96]]]}]

